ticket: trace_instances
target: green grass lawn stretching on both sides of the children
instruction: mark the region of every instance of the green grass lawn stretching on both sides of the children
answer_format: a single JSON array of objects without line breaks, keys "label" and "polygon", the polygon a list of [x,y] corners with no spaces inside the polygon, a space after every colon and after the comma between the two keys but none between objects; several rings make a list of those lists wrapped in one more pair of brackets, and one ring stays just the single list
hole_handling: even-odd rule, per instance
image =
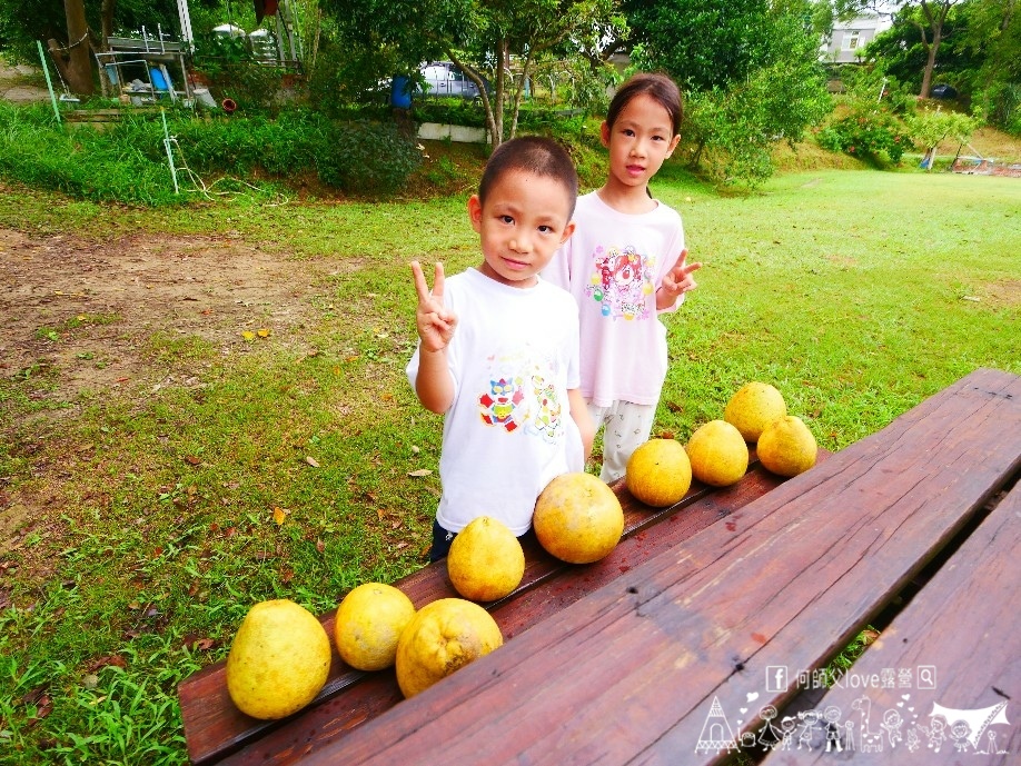
[{"label": "green grass lawn stretching on both sides of the children", "polygon": [[[1021,374],[1021,180],[819,170],[728,197],[668,166],[653,189],[705,263],[666,320],[657,432],[685,440],[763,380],[840,449],[977,367]],[[132,237],[227,237],[281,265],[276,287],[315,288],[245,352],[136,332],[126,385],[0,368],[0,763],[186,763],[176,684],[226,656],[252,603],[320,613],[424,564],[440,420],[404,377],[407,262],[479,260],[464,201],[149,211],[0,186],[4,269],[18,237],[107,260]],[[52,356],[89,322],[125,319],[54,316],[33,342]]]}]

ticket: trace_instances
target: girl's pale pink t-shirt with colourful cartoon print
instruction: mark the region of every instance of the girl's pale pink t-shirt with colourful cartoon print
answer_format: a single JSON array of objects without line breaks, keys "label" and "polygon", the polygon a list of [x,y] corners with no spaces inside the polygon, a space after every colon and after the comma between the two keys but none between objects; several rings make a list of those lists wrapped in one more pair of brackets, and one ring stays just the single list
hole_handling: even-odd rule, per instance
[{"label": "girl's pale pink t-shirt with colourful cartoon print", "polygon": [[681,216],[662,202],[646,213],[618,212],[593,191],[578,198],[574,221],[543,278],[577,301],[582,394],[596,407],[655,405],[666,378],[656,289],[684,250]]}]

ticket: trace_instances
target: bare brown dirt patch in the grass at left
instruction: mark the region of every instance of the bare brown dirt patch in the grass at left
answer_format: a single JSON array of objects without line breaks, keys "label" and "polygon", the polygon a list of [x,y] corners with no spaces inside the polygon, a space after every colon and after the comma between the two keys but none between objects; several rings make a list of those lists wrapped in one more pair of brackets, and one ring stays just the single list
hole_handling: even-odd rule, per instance
[{"label": "bare brown dirt patch in the grass at left", "polygon": [[225,356],[252,348],[246,330],[301,344],[320,276],[229,236],[96,242],[0,228],[0,376],[38,379],[30,396],[59,401],[194,385],[200,370],[153,365],[155,335],[197,336]]}]

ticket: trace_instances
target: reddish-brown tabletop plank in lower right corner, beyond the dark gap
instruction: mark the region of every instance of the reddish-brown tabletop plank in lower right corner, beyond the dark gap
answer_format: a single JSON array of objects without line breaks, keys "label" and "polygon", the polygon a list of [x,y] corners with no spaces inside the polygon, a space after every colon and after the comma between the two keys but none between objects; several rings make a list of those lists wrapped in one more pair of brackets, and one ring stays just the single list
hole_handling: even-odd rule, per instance
[{"label": "reddish-brown tabletop plank in lower right corner, beyond the dark gap", "polygon": [[[894,618],[842,685],[816,704],[816,710],[831,712],[836,730],[844,733],[844,757],[860,754],[870,764],[902,764],[911,756],[941,764],[954,756],[954,763],[967,757],[983,766],[1019,763],[1019,550],[1021,485]],[[933,729],[930,717],[940,708],[948,710],[942,732]],[[969,728],[954,729],[958,720]],[[781,750],[781,744],[765,766],[831,763],[836,743],[819,732],[815,745],[810,754]]]}]

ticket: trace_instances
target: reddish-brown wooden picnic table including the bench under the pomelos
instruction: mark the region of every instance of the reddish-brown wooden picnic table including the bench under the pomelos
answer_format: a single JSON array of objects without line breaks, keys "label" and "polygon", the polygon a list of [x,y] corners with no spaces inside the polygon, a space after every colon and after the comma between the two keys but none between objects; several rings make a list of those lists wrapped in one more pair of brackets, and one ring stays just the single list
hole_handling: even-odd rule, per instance
[{"label": "reddish-brown wooden picnic table including the bench under the pomelos", "polygon": [[[208,668],[180,688],[189,754],[710,764],[754,749],[785,764],[832,757],[819,755],[826,745],[885,742],[869,755],[954,763],[984,746],[997,753],[968,763],[1017,763],[1017,714],[994,708],[1021,699],[1021,488],[1005,491],[1021,469],[1019,402],[1021,378],[978,370],[784,484],[756,469],[727,490],[696,488],[684,508],[630,505],[628,536],[602,563],[569,567],[529,551],[525,586],[492,609],[512,640],[410,700],[391,673],[338,673],[335,663],[319,704],[259,725],[230,713],[222,667]],[[813,672],[901,608],[926,571],[847,686],[800,710]],[[418,604],[449,595],[438,567],[400,585]],[[890,709],[902,714],[892,744],[879,715]],[[936,754],[930,714],[944,710],[965,712],[980,737],[952,734],[946,720]],[[916,752],[910,730],[924,734]]]}]

